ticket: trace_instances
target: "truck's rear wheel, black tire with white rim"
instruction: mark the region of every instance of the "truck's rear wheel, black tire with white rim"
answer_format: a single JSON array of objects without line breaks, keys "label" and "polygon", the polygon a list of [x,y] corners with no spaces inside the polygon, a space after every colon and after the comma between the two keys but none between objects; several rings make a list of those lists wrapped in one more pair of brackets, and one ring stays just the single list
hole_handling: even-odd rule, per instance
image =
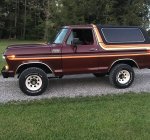
[{"label": "truck's rear wheel, black tire with white rim", "polygon": [[110,71],[109,79],[117,88],[128,88],[134,81],[133,68],[127,64],[118,64]]}]

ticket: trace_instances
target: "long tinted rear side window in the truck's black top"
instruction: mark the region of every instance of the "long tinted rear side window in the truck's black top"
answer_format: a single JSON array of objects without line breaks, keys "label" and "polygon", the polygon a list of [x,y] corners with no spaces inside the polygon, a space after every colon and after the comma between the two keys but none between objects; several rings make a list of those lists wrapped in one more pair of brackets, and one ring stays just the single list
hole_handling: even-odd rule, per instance
[{"label": "long tinted rear side window in the truck's black top", "polygon": [[102,34],[107,43],[144,42],[143,33],[138,28],[102,28]]}]

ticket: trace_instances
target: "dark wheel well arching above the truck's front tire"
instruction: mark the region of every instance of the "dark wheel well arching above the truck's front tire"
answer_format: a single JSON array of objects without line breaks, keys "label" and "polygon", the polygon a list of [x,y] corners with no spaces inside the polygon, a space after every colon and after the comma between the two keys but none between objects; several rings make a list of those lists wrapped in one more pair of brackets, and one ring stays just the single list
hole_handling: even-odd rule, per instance
[{"label": "dark wheel well arching above the truck's front tire", "polygon": [[31,67],[40,68],[47,74],[53,73],[52,70],[46,64],[43,64],[43,63],[30,63],[30,64],[23,64],[23,65],[19,66],[18,69],[16,70],[16,74],[20,75],[25,69],[31,68]]}]

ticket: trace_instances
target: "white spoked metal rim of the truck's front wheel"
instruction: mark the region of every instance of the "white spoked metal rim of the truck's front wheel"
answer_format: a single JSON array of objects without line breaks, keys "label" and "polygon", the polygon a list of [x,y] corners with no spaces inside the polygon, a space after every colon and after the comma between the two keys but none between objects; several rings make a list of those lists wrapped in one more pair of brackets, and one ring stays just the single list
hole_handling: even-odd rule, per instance
[{"label": "white spoked metal rim of the truck's front wheel", "polygon": [[25,85],[31,91],[39,90],[42,86],[42,79],[38,75],[30,75],[26,78]]}]

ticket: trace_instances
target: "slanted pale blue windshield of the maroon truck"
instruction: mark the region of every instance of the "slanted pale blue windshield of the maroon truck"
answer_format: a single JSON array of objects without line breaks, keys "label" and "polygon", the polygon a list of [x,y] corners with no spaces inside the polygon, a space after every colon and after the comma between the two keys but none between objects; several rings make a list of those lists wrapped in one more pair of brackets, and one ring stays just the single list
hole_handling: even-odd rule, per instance
[{"label": "slanted pale blue windshield of the maroon truck", "polygon": [[61,43],[63,43],[64,38],[65,38],[65,36],[67,34],[67,31],[68,31],[68,29],[61,29],[59,31],[59,33],[57,34],[54,43],[55,44],[61,44]]}]

